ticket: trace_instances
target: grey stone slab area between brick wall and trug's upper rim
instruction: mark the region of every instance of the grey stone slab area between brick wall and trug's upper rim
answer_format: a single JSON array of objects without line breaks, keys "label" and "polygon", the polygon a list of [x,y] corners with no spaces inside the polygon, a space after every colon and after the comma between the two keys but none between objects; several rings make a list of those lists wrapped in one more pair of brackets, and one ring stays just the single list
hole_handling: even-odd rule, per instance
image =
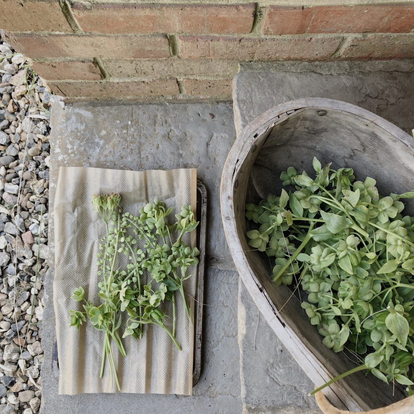
[{"label": "grey stone slab area between brick wall and trug's upper rim", "polygon": [[236,131],[279,103],[319,97],[361,106],[410,132],[413,85],[414,60],[244,63],[233,80]]}]

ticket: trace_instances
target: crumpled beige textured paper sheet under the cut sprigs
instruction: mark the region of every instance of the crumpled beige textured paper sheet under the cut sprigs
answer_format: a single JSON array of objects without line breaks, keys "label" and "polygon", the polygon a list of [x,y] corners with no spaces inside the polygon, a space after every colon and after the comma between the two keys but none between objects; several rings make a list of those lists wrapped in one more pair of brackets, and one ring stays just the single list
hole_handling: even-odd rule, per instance
[{"label": "crumpled beige textured paper sheet under the cut sprigs", "polygon": [[[97,253],[105,226],[92,206],[93,194],[120,193],[121,207],[138,214],[140,207],[155,197],[167,207],[182,205],[196,208],[197,177],[195,169],[171,171],[124,171],[102,168],[60,167],[54,204],[55,279],[53,301],[59,361],[59,394],[118,392],[111,387],[109,363],[99,378],[104,332],[96,330],[89,320],[79,327],[70,327],[69,309],[83,310],[70,296],[76,287],[85,289],[85,298],[100,304],[98,293]],[[196,232],[185,234],[185,243],[196,243]],[[191,270],[195,274],[195,269]],[[145,276],[145,275],[144,275]],[[191,315],[194,315],[195,276],[185,281]],[[145,279],[144,279],[145,281]],[[154,283],[153,283],[154,284]],[[143,285],[143,284],[142,284]],[[154,284],[156,286],[156,284]],[[166,332],[159,326],[145,325],[138,342],[131,336],[123,339],[127,356],[123,358],[111,342],[120,380],[121,392],[191,395],[193,389],[193,337],[181,296],[176,295],[177,332],[181,344],[178,351]],[[171,315],[171,303],[162,305]],[[123,318],[122,336],[126,316]],[[166,318],[167,326],[171,318]],[[171,326],[170,326],[171,328]]]}]

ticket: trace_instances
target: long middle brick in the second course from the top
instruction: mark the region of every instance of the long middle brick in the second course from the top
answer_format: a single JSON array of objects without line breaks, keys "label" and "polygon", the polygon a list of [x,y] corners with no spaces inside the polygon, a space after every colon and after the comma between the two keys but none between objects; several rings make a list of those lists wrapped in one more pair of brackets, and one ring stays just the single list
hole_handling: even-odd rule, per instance
[{"label": "long middle brick in the second course from the top", "polygon": [[342,36],[235,38],[179,36],[183,58],[229,60],[318,60],[330,58]]}]

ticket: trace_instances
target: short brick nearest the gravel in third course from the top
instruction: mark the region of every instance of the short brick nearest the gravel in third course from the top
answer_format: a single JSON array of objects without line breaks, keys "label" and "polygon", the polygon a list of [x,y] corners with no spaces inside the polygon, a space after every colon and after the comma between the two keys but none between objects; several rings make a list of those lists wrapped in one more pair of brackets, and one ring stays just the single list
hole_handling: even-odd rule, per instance
[{"label": "short brick nearest the gravel in third course from the top", "polygon": [[34,62],[32,67],[38,75],[47,80],[99,80],[102,77],[99,67],[91,61]]}]

